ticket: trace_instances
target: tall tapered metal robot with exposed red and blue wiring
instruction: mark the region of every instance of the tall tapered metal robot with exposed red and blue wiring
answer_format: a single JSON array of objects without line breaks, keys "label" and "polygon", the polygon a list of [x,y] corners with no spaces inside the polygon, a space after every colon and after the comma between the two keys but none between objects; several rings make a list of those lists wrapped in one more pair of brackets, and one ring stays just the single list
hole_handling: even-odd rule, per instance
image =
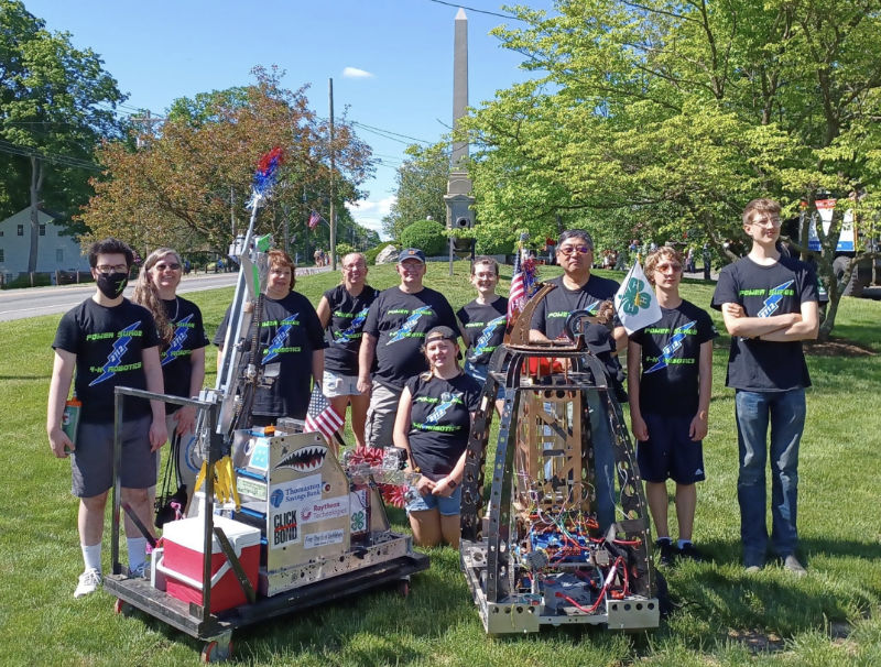
[{"label": "tall tapered metal robot with exposed red and blue wiring", "polygon": [[[543,286],[493,353],[463,480],[461,567],[489,634],[543,625],[656,627],[648,505],[621,407],[602,363],[575,342],[529,342]],[[485,477],[496,398],[496,460]],[[490,480],[489,502],[483,485]]]}]

